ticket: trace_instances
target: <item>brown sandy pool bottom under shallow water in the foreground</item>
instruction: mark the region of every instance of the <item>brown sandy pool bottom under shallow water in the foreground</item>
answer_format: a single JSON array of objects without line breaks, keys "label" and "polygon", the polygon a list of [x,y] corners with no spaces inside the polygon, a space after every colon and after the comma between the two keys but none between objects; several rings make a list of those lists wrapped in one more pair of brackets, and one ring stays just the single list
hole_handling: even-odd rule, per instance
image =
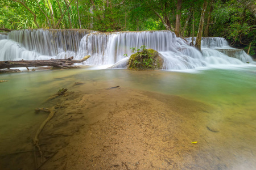
[{"label": "brown sandy pool bottom under shallow water in the foreground", "polygon": [[0,157],[1,169],[256,167],[254,137],[230,134],[237,130],[214,119],[222,111],[199,101],[117,87],[68,91],[49,105],[56,113],[39,135],[42,155],[30,135],[26,150]]}]

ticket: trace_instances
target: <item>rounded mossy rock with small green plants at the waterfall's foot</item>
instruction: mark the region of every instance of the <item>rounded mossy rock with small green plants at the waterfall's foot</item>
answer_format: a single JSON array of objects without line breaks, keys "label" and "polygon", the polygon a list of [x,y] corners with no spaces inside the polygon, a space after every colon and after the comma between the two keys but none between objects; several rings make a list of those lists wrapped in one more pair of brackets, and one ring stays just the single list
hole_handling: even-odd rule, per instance
[{"label": "rounded mossy rock with small green plants at the waterfall's foot", "polygon": [[131,55],[129,69],[133,70],[158,70],[163,68],[163,58],[154,49],[144,49]]}]

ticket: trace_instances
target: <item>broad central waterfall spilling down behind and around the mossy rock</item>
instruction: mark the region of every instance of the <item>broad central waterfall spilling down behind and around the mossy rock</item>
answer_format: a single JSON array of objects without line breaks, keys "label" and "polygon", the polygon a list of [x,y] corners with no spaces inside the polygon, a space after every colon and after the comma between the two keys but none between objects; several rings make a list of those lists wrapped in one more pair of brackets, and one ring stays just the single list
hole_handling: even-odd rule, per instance
[{"label": "broad central waterfall spilling down behind and around the mossy rock", "polygon": [[142,45],[160,52],[164,58],[164,69],[192,69],[196,66],[206,66],[203,56],[195,48],[188,46],[184,40],[177,39],[170,31],[143,31],[118,33],[90,33],[80,43],[77,58],[86,54],[92,57],[86,61],[89,65],[113,65],[124,67],[130,48],[140,48]]}]

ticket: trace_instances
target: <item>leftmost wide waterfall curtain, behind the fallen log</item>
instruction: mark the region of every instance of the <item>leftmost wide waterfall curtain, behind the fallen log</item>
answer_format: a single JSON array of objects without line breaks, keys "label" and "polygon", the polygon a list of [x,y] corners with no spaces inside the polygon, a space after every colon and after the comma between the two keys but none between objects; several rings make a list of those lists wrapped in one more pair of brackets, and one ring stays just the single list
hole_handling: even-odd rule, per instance
[{"label": "leftmost wide waterfall curtain, behind the fallen log", "polygon": [[[89,29],[23,29],[0,36],[0,61],[75,56]],[[4,39],[4,40],[3,40]]]}]

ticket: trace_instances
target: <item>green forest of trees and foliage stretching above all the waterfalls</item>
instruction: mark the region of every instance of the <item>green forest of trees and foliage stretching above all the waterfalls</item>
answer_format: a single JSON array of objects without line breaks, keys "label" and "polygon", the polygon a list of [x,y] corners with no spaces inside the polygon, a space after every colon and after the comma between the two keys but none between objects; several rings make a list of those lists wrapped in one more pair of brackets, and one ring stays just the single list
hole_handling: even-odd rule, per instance
[{"label": "green forest of trees and foliage stretching above all the waterfalls", "polygon": [[[203,10],[205,8],[204,16]],[[255,0],[2,0],[0,29],[169,29],[177,36],[225,37],[255,54]],[[203,24],[203,25],[202,25]]]}]

